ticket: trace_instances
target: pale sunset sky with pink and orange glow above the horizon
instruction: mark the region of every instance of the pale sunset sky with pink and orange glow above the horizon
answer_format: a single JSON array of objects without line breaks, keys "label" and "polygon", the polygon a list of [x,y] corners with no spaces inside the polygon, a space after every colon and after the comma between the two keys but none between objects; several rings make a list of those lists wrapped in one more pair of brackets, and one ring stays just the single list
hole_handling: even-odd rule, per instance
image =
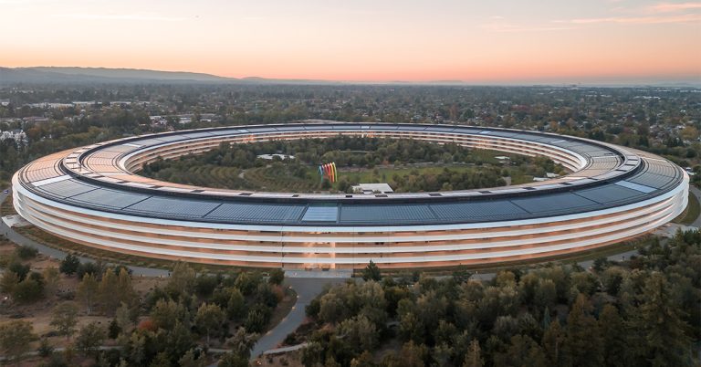
[{"label": "pale sunset sky with pink and orange glow above the horizon", "polygon": [[701,2],[0,0],[0,66],[225,77],[701,80]]}]

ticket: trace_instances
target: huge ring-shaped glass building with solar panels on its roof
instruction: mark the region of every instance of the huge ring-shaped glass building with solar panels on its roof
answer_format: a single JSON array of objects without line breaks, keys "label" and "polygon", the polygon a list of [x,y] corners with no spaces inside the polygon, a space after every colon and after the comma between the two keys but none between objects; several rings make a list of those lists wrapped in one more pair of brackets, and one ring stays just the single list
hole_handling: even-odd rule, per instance
[{"label": "huge ring-shaped glass building with solar panels on its roof", "polygon": [[[453,142],[546,156],[572,173],[482,190],[286,194],[138,175],[222,142],[337,135]],[[310,121],[131,137],[58,152],[13,177],[27,221],[85,246],[243,267],[448,267],[567,255],[640,236],[682,213],[688,176],[663,158],[556,134],[455,125]]]}]

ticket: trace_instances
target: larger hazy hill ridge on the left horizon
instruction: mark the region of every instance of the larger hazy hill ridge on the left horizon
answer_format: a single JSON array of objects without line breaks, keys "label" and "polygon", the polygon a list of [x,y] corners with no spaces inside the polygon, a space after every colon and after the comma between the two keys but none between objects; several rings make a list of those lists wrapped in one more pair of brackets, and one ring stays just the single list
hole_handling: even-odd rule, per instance
[{"label": "larger hazy hill ridge on the left horizon", "polygon": [[185,71],[159,71],[138,68],[34,67],[0,68],[0,85],[7,84],[88,84],[88,83],[238,83],[238,84],[337,84],[323,80],[225,78]]}]

